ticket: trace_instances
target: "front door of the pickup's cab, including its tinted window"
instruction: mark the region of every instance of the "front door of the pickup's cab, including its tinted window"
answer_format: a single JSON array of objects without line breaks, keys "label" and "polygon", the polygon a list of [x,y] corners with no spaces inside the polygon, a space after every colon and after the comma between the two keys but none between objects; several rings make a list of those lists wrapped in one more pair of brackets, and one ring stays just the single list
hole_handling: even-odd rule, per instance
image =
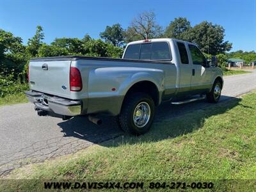
[{"label": "front door of the pickup's cab, including its tinted window", "polygon": [[204,54],[196,45],[188,44],[188,47],[191,58],[191,93],[205,93],[211,85],[211,68],[207,66]]}]

